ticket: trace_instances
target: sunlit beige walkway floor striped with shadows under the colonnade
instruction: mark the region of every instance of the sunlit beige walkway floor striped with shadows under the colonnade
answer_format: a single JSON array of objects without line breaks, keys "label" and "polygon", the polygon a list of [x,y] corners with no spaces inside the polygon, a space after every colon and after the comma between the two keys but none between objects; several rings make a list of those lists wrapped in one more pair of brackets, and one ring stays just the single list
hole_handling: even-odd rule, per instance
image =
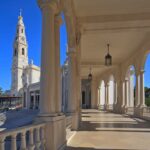
[{"label": "sunlit beige walkway floor striped with shadows under the colonnade", "polygon": [[67,150],[149,150],[150,122],[127,115],[82,110],[79,131]]}]

